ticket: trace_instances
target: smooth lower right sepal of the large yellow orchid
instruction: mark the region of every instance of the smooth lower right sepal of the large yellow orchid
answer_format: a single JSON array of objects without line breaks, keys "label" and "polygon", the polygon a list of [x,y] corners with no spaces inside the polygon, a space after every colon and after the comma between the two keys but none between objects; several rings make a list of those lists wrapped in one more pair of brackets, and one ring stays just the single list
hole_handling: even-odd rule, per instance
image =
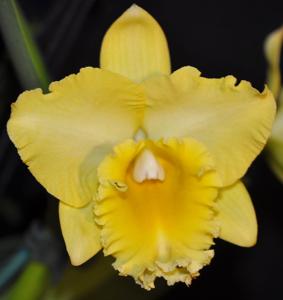
[{"label": "smooth lower right sepal of the large yellow orchid", "polygon": [[251,247],[257,240],[257,221],[251,198],[240,181],[224,188],[216,203],[219,237],[230,243]]}]

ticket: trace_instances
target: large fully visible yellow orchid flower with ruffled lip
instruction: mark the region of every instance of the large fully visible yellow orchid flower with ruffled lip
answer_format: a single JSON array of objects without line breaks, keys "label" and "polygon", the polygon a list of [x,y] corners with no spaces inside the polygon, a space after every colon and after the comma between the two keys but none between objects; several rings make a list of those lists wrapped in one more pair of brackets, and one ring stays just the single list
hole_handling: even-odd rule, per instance
[{"label": "large fully visible yellow orchid flower with ruffled lip", "polygon": [[22,93],[9,136],[60,200],[73,265],[103,249],[146,289],[156,277],[189,285],[214,238],[256,242],[240,178],[270,134],[273,96],[193,67],[171,74],[160,26],[136,5],[106,33],[100,59],[48,94]]}]

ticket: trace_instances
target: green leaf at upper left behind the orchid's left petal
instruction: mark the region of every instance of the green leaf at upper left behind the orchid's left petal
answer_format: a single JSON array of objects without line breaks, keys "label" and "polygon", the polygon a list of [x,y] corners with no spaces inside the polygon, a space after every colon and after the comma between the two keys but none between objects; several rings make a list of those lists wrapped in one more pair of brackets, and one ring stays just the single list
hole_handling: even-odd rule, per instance
[{"label": "green leaf at upper left behind the orchid's left petal", "polygon": [[23,88],[47,91],[44,63],[15,0],[0,0],[0,29]]}]

